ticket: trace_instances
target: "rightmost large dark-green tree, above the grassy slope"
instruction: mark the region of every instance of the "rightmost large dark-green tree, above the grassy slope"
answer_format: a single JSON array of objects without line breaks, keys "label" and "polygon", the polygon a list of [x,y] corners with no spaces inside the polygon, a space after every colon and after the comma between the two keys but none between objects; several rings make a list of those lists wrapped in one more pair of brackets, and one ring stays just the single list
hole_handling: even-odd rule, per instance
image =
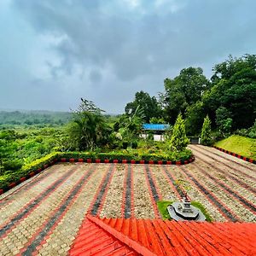
[{"label": "rightmost large dark-green tree, above the grassy slope", "polygon": [[212,121],[216,110],[230,111],[233,130],[248,128],[256,118],[256,55],[229,57],[213,68],[212,88],[202,98]]}]

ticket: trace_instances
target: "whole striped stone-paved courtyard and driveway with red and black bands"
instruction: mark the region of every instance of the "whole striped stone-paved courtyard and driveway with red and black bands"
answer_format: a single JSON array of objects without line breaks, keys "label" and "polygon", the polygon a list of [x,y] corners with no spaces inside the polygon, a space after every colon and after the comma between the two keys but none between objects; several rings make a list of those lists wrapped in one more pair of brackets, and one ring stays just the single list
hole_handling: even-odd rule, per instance
[{"label": "whole striped stone-paved courtyard and driveway with red and black bands", "polygon": [[215,221],[256,222],[255,165],[189,146],[186,166],[58,164],[0,196],[0,255],[67,255],[86,212],[160,218],[158,200],[180,200],[184,181]]}]

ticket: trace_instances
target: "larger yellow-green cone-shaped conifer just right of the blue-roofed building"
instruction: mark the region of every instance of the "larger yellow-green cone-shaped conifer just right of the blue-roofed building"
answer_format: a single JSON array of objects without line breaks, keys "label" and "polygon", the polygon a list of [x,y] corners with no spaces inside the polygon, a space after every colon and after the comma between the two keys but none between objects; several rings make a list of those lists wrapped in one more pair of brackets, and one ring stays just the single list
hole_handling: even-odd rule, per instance
[{"label": "larger yellow-green cone-shaped conifer just right of the blue-roofed building", "polygon": [[170,147],[178,152],[183,151],[189,144],[189,139],[186,136],[184,120],[182,114],[179,113],[175,125],[173,126],[172,138]]}]

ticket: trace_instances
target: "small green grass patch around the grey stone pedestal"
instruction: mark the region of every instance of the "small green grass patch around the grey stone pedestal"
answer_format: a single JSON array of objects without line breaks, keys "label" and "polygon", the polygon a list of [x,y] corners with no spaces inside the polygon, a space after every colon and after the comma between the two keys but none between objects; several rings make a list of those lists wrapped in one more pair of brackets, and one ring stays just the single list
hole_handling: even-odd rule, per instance
[{"label": "small green grass patch around the grey stone pedestal", "polygon": [[[167,207],[170,206],[173,203],[173,201],[158,201],[157,202],[157,207],[158,210],[160,211],[160,214],[164,220],[169,219],[172,220],[172,218],[169,215],[169,212],[167,211]],[[208,222],[212,222],[212,217],[210,214],[207,212],[207,209],[199,202],[199,201],[191,201],[191,205],[193,207],[198,208],[201,210],[201,212],[205,215],[207,218]]]}]

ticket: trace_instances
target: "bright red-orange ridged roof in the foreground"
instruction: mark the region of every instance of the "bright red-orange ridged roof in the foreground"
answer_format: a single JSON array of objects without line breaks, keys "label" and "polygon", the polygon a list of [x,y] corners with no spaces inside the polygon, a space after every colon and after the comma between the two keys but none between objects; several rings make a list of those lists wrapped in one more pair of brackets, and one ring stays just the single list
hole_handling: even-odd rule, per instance
[{"label": "bright red-orange ridged roof in the foreground", "polygon": [[256,224],[87,215],[70,255],[256,255]]}]

